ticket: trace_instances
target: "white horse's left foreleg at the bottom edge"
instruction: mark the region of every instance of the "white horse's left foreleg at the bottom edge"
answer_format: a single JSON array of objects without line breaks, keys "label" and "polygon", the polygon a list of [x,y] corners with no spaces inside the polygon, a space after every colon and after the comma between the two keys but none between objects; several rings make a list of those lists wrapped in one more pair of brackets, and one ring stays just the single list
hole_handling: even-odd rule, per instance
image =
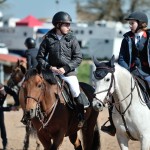
[{"label": "white horse's left foreleg at the bottom edge", "polygon": [[116,134],[117,136],[117,140],[118,140],[118,143],[119,143],[119,146],[120,146],[120,149],[121,150],[129,150],[128,148],[128,137],[126,135],[120,135],[120,134]]}]

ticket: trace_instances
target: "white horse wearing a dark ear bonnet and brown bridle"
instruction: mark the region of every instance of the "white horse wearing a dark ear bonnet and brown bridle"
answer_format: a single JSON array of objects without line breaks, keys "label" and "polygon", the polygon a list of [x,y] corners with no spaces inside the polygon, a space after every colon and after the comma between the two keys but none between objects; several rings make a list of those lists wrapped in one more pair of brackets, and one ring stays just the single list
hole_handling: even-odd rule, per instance
[{"label": "white horse wearing a dark ear bonnet and brown bridle", "polygon": [[115,63],[114,56],[107,62],[94,58],[94,64],[93,102],[99,110],[113,105],[112,119],[121,150],[128,150],[129,140],[139,141],[141,150],[150,150],[150,110],[134,76]]}]

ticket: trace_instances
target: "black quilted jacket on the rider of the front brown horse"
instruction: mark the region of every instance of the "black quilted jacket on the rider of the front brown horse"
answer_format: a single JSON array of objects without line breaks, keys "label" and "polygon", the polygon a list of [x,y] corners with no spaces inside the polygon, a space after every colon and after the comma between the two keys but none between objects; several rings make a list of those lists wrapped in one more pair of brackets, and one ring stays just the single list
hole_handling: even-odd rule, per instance
[{"label": "black quilted jacket on the rider of the front brown horse", "polygon": [[45,35],[36,58],[43,68],[63,67],[66,71],[65,75],[68,75],[80,65],[82,53],[72,32],[59,40],[55,29],[52,29]]}]

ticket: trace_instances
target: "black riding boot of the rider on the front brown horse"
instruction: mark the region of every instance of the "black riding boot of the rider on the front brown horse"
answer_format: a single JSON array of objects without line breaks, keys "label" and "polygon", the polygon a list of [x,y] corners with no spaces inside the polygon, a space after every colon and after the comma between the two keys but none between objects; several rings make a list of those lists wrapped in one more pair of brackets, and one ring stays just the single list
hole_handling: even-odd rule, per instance
[{"label": "black riding boot of the rider on the front brown horse", "polygon": [[77,105],[77,111],[78,111],[78,120],[79,120],[79,124],[78,127],[82,128],[83,124],[85,122],[85,118],[84,118],[84,103],[83,103],[83,99],[81,94],[79,94],[78,97],[74,98],[76,105]]}]

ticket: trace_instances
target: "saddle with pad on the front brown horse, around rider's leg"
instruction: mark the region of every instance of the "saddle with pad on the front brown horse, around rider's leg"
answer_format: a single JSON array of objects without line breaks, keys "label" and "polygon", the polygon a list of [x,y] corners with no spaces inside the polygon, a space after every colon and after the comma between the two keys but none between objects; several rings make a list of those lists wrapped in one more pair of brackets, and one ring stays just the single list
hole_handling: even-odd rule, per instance
[{"label": "saddle with pad on the front brown horse, around rider's leg", "polygon": [[[62,96],[63,96],[66,104],[68,105],[68,107],[70,109],[76,109],[76,102],[71,94],[68,83],[65,82],[64,80],[62,80],[59,75],[56,75],[56,80],[57,80],[59,87],[62,89],[61,93],[62,93]],[[80,84],[80,87],[82,88],[83,84]],[[82,96],[82,100],[83,100],[83,104],[84,104],[84,109],[90,107],[90,102],[89,102],[87,96],[85,95],[84,91],[82,91],[82,90],[81,90],[81,96]]]}]

